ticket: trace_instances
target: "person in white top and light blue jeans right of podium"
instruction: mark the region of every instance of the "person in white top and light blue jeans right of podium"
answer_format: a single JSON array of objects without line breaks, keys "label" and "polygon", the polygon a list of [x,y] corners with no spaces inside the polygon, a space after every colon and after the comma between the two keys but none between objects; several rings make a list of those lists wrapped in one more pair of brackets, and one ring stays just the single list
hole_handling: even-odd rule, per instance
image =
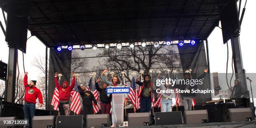
[{"label": "person in white top and light blue jeans right of podium", "polygon": [[[169,81],[166,84],[160,85],[160,90],[169,90],[172,86]],[[161,92],[161,112],[172,112],[172,108],[176,104],[175,93]]]}]

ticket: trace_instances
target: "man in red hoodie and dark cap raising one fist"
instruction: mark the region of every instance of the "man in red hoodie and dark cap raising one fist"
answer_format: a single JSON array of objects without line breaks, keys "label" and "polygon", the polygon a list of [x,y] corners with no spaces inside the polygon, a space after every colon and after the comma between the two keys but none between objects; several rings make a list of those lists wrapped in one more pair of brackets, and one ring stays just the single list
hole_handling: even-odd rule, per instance
[{"label": "man in red hoodie and dark cap raising one fist", "polygon": [[41,91],[36,88],[36,80],[31,80],[28,84],[28,72],[25,72],[23,84],[26,88],[23,110],[25,113],[25,119],[29,120],[29,126],[27,126],[29,128],[31,126],[31,119],[35,115],[36,111],[36,99],[39,99],[39,107],[42,107],[43,96]]}]

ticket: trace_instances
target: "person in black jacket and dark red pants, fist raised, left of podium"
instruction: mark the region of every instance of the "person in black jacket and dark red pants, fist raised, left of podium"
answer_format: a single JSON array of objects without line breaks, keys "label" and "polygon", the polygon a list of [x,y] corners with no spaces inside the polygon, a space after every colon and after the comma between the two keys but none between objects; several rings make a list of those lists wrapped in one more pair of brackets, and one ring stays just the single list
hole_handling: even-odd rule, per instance
[{"label": "person in black jacket and dark red pants, fist raised, left of podium", "polygon": [[110,114],[112,95],[107,95],[106,89],[108,85],[106,83],[102,83],[102,88],[99,87],[99,81],[100,79],[96,81],[96,89],[100,92],[101,114]]}]

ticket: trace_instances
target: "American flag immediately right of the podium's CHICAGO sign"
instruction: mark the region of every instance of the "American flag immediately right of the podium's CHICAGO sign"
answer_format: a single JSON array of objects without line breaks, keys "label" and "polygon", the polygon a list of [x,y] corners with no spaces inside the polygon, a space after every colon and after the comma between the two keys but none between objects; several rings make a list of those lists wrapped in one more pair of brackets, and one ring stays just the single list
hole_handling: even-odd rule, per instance
[{"label": "American flag immediately right of the podium's CHICAGO sign", "polygon": [[135,83],[135,78],[132,78],[131,86],[130,86],[130,93],[128,94],[128,97],[131,99],[131,102],[133,103],[133,106],[135,110],[138,109],[138,95],[137,95],[137,88]]}]

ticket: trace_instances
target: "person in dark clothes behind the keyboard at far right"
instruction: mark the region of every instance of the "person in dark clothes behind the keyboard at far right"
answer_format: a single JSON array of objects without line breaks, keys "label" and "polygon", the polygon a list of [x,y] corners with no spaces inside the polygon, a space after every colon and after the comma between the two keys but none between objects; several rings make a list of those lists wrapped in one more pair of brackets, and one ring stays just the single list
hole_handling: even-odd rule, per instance
[{"label": "person in dark clothes behind the keyboard at far right", "polygon": [[245,102],[243,101],[244,92],[245,92],[245,89],[243,85],[241,85],[241,80],[236,79],[234,81],[234,87],[232,90],[231,99],[235,100],[236,106],[239,108],[245,107]]}]

